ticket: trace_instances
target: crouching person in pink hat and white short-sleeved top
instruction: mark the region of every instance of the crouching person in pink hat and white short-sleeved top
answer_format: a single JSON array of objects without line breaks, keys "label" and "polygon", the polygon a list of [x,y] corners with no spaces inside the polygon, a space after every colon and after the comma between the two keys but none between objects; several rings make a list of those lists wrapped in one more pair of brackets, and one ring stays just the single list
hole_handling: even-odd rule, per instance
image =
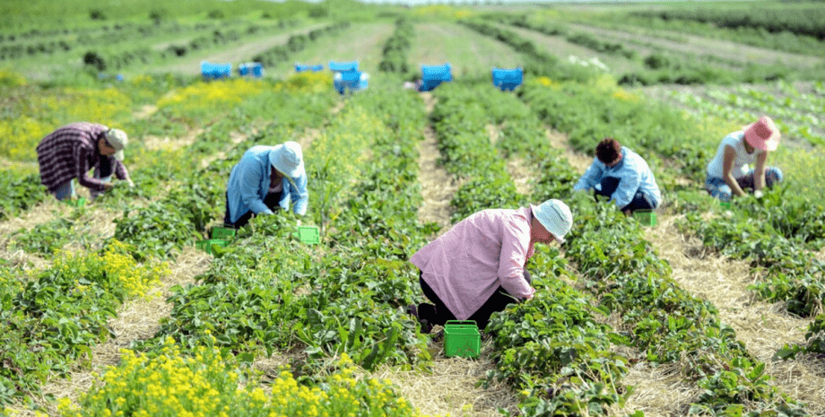
[{"label": "crouching person in pink hat and white short-sleeved top", "polygon": [[[760,198],[764,187],[782,181],[781,170],[765,166],[768,154],[779,146],[779,137],[779,129],[767,116],[726,135],[708,163],[705,189],[724,202],[731,201],[733,195],[745,195],[745,188],[753,189],[753,195]],[[756,168],[749,169],[754,162]]]}]

